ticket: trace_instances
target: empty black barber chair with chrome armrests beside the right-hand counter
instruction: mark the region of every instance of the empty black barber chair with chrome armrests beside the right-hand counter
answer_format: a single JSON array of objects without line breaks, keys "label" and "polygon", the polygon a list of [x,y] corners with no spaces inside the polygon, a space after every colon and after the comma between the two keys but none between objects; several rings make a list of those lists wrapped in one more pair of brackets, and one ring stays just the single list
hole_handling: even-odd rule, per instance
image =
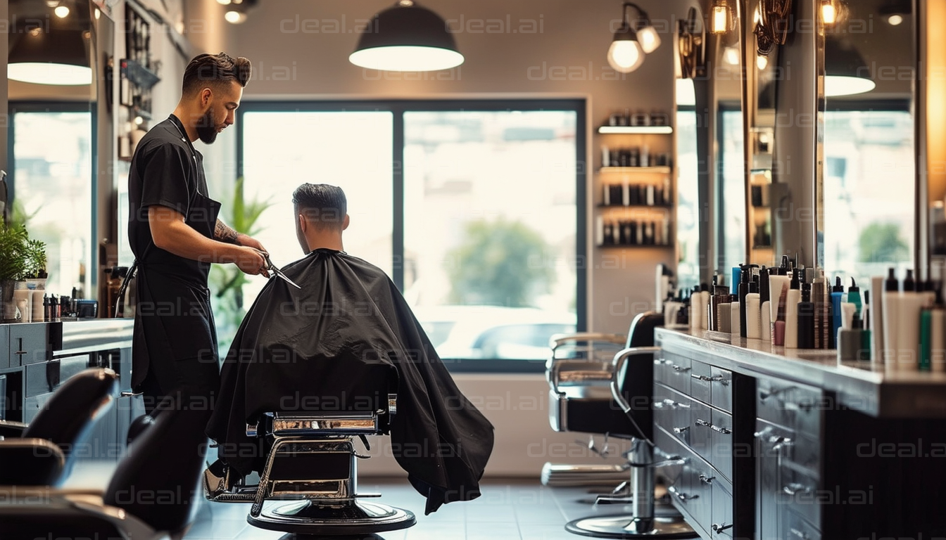
[{"label": "empty black barber chair with chrome armrests beside the right-hand counter", "polygon": [[[593,362],[582,365],[580,361],[572,361],[559,364],[556,369],[554,355],[550,360],[552,428],[605,433],[630,443],[630,449],[623,454],[627,462],[622,465],[625,473],[628,470],[631,473],[630,495],[598,496],[595,502],[631,504],[632,513],[576,519],[566,524],[569,532],[599,538],[697,536],[672,507],[664,505],[660,512],[655,513],[655,469],[682,464],[679,460],[654,462],[653,459],[651,401],[654,353],[658,351],[653,346],[654,329],[662,324],[663,316],[658,313],[638,315],[631,323],[625,348],[612,358],[608,366],[596,366]],[[591,339],[586,335],[574,340],[587,342]]]}]

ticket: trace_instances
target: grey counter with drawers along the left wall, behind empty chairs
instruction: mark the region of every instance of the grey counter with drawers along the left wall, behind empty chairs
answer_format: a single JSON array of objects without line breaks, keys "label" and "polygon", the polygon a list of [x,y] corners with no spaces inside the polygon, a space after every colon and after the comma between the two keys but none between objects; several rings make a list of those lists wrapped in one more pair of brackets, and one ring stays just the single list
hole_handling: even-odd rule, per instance
[{"label": "grey counter with drawers along the left wall, behind empty chairs", "polygon": [[[131,419],[144,413],[131,396],[133,319],[0,324],[0,418],[28,423],[69,377],[90,367],[119,375],[114,407],[96,422],[81,459],[117,460]],[[124,395],[123,395],[124,394]]]}]

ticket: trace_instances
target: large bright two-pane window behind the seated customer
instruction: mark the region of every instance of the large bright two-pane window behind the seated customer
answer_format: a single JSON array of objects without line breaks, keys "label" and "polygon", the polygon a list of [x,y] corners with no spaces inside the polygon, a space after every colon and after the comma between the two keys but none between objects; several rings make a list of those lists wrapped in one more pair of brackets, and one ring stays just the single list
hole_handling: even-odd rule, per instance
[{"label": "large bright two-pane window behind the seated customer", "polygon": [[552,334],[584,327],[584,103],[240,111],[244,197],[272,203],[256,236],[276,261],[301,256],[292,191],[333,183],[345,250],[389,273],[451,369],[540,371]]}]

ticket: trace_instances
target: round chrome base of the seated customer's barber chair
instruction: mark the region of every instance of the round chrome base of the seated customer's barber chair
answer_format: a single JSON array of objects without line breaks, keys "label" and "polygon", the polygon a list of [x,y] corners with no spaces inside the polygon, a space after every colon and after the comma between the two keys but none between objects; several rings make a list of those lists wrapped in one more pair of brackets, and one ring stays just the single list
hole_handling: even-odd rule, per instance
[{"label": "round chrome base of the seated customer's barber chair", "polygon": [[256,517],[248,515],[246,520],[268,531],[340,535],[397,531],[417,522],[414,514],[407,510],[360,500],[332,505],[298,501],[263,510]]}]

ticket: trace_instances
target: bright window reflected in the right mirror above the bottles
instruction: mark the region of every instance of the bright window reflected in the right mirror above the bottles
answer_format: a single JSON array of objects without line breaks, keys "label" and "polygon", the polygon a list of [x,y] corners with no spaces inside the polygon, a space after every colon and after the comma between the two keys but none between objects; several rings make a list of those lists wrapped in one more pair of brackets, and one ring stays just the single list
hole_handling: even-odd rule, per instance
[{"label": "bright window reflected in the right mirror above the bottles", "polygon": [[913,148],[905,104],[825,113],[824,250],[832,277],[864,287],[887,268],[900,278],[913,268]]}]

